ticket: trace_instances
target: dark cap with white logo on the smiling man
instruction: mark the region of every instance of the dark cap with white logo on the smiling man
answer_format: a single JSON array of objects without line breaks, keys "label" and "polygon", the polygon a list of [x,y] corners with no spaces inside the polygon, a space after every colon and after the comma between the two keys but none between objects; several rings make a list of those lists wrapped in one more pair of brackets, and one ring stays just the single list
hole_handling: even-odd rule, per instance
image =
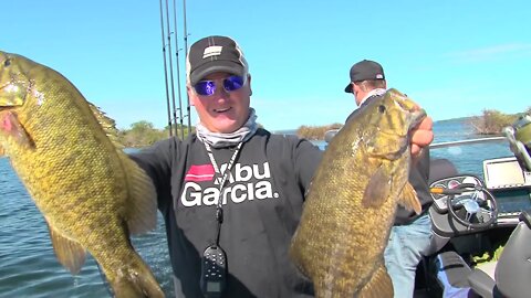
[{"label": "dark cap with white logo on the smiling man", "polygon": [[217,72],[244,76],[248,67],[240,46],[227,36],[208,36],[197,41],[190,46],[186,60],[187,81],[191,85]]}]

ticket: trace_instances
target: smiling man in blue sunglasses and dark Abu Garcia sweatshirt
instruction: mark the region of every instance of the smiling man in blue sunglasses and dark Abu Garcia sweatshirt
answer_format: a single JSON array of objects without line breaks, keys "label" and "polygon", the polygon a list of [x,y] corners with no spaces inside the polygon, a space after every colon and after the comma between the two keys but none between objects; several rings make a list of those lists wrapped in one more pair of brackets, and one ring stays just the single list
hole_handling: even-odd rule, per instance
[{"label": "smiling man in blue sunglasses and dark Abu Garcia sweatshirt", "polygon": [[[187,92],[199,116],[197,132],[133,157],[157,189],[177,297],[216,290],[223,297],[313,296],[289,246],[321,150],[257,127],[249,65],[230,38],[208,36],[191,45]],[[430,118],[409,135],[418,155],[433,139]],[[209,291],[199,281],[208,279],[201,264],[212,247],[222,252],[225,265],[216,267],[222,280],[212,279]]]}]

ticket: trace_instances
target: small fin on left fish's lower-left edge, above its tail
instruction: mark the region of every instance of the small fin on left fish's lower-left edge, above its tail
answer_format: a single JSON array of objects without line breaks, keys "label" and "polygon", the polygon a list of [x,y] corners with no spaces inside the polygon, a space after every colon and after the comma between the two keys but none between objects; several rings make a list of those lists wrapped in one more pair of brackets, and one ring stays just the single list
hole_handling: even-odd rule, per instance
[{"label": "small fin on left fish's lower-left edge, above its tail", "polygon": [[85,248],[83,248],[79,242],[63,236],[61,232],[48,223],[48,220],[46,224],[50,231],[53,251],[55,252],[59,263],[73,275],[77,274],[85,263]]}]

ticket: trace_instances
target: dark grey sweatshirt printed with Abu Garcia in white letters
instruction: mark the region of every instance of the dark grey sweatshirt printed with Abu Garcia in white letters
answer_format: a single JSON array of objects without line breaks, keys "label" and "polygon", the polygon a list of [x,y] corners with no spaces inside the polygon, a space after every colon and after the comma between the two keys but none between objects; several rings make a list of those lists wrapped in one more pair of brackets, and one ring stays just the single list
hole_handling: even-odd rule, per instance
[{"label": "dark grey sweatshirt printed with Abu Garcia in white letters", "polygon": [[[233,148],[212,148],[220,172]],[[192,134],[170,138],[131,157],[149,174],[164,215],[177,297],[202,297],[200,260],[216,242],[216,206],[227,254],[222,297],[312,297],[313,288],[289,259],[304,193],[322,151],[295,136],[258,129],[240,149],[225,188],[205,145]],[[333,200],[333,198],[331,198]]]}]

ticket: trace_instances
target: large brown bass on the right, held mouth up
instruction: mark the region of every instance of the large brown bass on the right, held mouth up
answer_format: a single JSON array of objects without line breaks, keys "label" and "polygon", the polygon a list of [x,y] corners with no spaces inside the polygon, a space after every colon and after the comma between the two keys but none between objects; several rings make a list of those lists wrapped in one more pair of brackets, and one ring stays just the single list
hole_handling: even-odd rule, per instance
[{"label": "large brown bass on the right, held mouth up", "polygon": [[397,204],[420,212],[408,183],[409,130],[425,116],[389,89],[326,148],[290,247],[316,297],[393,297],[383,255]]}]

